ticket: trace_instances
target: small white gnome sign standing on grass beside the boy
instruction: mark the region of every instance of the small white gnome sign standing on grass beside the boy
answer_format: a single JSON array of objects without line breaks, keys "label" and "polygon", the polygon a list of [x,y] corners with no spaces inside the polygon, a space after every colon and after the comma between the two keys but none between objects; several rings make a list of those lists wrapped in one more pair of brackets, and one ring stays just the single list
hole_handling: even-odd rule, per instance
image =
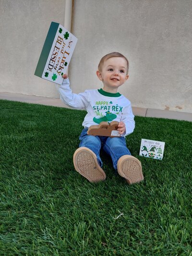
[{"label": "small white gnome sign standing on grass beside the boy", "polygon": [[145,158],[162,160],[165,142],[156,140],[141,140],[139,155]]}]

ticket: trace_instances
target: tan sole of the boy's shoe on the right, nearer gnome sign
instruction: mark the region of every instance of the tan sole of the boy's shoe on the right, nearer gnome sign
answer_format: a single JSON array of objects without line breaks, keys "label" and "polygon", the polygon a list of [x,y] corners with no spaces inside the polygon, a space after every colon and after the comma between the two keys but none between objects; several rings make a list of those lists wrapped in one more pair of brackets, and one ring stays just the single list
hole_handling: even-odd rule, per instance
[{"label": "tan sole of the boy's shoe on the right, nearer gnome sign", "polygon": [[130,184],[144,180],[141,162],[130,155],[122,156],[117,163],[117,169],[121,177]]}]

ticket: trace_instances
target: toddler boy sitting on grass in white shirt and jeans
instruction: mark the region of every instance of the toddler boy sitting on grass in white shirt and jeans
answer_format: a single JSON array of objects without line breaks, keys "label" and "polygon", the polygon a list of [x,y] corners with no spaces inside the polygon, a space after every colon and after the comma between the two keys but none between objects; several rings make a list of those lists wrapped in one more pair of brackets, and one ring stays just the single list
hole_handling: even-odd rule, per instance
[{"label": "toddler boy sitting on grass in white shirt and jeans", "polygon": [[[100,149],[112,158],[113,167],[121,177],[130,184],[144,180],[141,162],[131,156],[126,146],[125,136],[134,130],[134,115],[130,101],[117,92],[118,88],[129,78],[129,62],[119,52],[105,55],[99,62],[96,75],[103,82],[103,89],[85,90],[74,94],[70,88],[67,74],[63,75],[63,83],[59,87],[61,100],[68,106],[86,110],[84,129],[79,137],[80,145],[73,155],[76,171],[90,182],[106,179],[103,171]],[[100,122],[118,121],[119,137],[88,135],[91,125]]]}]

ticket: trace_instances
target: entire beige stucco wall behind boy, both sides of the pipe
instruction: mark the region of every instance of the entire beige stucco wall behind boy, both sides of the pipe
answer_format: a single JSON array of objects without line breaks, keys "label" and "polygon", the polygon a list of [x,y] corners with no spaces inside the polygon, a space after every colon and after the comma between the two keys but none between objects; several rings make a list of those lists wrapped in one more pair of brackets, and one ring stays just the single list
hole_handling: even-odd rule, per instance
[{"label": "entire beige stucco wall behind boy, both sides of the pipe", "polygon": [[[192,112],[192,0],[74,0],[78,38],[69,76],[75,93],[100,88],[100,58],[120,51],[132,106]],[[0,92],[58,98],[34,75],[51,21],[64,25],[65,0],[0,0]]]}]

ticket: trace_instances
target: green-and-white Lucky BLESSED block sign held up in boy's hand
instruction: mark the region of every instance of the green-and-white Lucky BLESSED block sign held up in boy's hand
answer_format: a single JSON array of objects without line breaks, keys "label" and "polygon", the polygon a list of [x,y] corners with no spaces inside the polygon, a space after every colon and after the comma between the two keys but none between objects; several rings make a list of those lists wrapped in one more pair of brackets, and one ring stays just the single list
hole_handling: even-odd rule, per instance
[{"label": "green-and-white Lucky BLESSED block sign held up in boy's hand", "polygon": [[51,22],[35,75],[61,85],[77,38],[59,23]]}]

